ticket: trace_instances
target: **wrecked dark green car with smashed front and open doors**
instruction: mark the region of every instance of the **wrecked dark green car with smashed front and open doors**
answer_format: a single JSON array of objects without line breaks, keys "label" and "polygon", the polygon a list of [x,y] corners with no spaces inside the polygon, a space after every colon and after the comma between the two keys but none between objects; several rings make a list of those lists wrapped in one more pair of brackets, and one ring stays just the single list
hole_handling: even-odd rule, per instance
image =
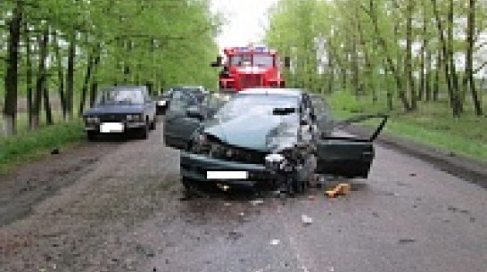
[{"label": "wrecked dark green car with smashed front and open doors", "polygon": [[182,151],[186,188],[210,183],[284,186],[294,194],[315,173],[367,177],[374,159],[372,142],[387,118],[379,115],[384,120],[374,136],[361,139],[326,136],[317,124],[318,114],[301,89],[248,89],[204,120],[188,108],[186,116],[164,128],[164,141]]}]

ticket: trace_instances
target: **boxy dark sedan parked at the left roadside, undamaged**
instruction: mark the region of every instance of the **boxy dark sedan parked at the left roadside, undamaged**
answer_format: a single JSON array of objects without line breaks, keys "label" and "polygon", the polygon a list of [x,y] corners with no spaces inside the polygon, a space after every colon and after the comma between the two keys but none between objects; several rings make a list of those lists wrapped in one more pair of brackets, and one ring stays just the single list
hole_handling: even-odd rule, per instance
[{"label": "boxy dark sedan parked at the left roadside, undamaged", "polygon": [[88,140],[100,134],[135,131],[147,138],[155,129],[155,104],[147,87],[107,87],[99,92],[95,106],[84,112]]}]

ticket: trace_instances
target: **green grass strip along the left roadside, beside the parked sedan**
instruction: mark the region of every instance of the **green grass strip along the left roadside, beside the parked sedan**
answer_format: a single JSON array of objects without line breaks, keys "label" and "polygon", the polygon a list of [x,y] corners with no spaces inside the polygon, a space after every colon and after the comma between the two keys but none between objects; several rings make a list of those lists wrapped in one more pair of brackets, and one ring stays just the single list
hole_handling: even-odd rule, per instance
[{"label": "green grass strip along the left roadside, beside the parked sedan", "polygon": [[85,132],[80,119],[59,123],[35,131],[21,131],[16,136],[0,138],[0,174],[83,141]]}]

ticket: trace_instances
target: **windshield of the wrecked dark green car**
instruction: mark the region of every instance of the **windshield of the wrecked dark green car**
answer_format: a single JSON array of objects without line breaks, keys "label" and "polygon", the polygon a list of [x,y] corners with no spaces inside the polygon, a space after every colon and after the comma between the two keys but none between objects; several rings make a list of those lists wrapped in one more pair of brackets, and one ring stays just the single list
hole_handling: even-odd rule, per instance
[{"label": "windshield of the wrecked dark green car", "polygon": [[276,108],[297,108],[297,104],[298,98],[293,95],[236,95],[214,118],[226,121],[246,114],[272,115]]}]

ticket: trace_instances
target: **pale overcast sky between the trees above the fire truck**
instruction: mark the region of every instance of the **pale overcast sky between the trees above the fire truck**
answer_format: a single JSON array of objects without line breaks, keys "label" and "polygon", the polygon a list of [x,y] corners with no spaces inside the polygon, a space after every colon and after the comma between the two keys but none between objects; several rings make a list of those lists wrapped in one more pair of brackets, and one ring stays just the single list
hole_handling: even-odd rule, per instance
[{"label": "pale overcast sky between the trees above the fire truck", "polygon": [[211,0],[213,11],[221,12],[226,24],[217,38],[220,49],[226,46],[257,44],[267,24],[268,7],[278,0]]}]

